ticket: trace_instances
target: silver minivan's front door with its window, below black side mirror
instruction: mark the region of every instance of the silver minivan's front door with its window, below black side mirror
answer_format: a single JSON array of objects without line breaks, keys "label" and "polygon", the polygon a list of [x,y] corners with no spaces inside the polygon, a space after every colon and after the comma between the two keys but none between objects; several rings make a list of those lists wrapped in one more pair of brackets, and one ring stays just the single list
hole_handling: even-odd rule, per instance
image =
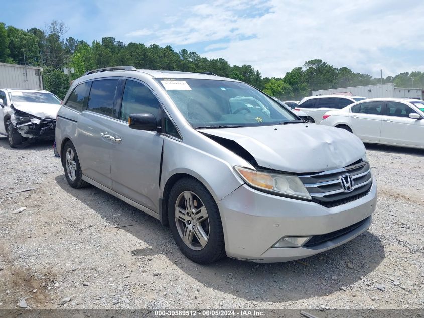
[{"label": "silver minivan's front door with its window, below black side mirror", "polygon": [[151,113],[161,120],[159,100],[142,82],[126,80],[122,106],[113,131],[121,139],[111,149],[115,192],[159,213],[159,178],[164,137],[154,131],[129,128],[130,114]]}]

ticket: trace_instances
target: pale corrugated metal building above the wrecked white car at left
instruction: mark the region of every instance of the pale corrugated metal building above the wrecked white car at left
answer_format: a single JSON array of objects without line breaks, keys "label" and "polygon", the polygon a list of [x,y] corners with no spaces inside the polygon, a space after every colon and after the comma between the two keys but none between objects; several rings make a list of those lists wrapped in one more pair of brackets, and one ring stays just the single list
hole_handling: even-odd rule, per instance
[{"label": "pale corrugated metal building above the wrecked white car at left", "polygon": [[41,67],[0,63],[0,88],[43,89]]}]

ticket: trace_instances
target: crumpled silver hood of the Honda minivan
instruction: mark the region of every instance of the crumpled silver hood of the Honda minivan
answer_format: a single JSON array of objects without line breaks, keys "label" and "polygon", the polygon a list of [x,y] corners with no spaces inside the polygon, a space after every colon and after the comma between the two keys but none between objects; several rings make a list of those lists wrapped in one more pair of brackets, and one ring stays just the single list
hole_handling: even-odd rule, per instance
[{"label": "crumpled silver hood of the Honda minivan", "polygon": [[318,124],[201,129],[203,134],[235,141],[261,167],[293,173],[343,168],[365,155],[352,133]]}]

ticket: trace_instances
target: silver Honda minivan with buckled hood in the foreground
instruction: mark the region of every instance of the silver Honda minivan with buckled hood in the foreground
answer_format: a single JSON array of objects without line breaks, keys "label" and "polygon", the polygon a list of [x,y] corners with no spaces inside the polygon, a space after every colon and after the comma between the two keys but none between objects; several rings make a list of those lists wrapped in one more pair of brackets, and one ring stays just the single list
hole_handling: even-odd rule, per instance
[{"label": "silver Honda minivan with buckled hood in the foreground", "polygon": [[70,186],[159,219],[203,264],[327,251],[368,229],[377,200],[359,138],[212,74],[88,72],[59,110],[56,147]]}]

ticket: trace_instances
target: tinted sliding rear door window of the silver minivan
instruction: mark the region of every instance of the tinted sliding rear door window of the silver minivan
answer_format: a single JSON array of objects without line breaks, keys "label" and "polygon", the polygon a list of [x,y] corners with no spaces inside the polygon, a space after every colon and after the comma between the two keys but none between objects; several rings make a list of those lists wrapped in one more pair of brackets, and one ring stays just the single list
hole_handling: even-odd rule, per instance
[{"label": "tinted sliding rear door window of the silver minivan", "polygon": [[117,79],[102,79],[93,81],[88,99],[87,110],[112,116],[115,100]]}]

